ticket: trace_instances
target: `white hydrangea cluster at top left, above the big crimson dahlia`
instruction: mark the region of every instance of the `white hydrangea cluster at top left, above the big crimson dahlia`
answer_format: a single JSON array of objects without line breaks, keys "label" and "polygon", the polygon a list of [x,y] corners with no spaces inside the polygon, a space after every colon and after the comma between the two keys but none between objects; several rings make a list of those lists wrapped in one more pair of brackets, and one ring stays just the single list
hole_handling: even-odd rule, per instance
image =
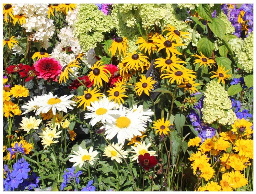
[{"label": "white hydrangea cluster at top left, above the big crimson dahlia", "polygon": [[14,4],[15,15],[23,14],[26,23],[21,27],[32,32],[32,41],[40,42],[41,47],[49,47],[49,38],[54,34],[53,20],[48,19],[48,4]]}]

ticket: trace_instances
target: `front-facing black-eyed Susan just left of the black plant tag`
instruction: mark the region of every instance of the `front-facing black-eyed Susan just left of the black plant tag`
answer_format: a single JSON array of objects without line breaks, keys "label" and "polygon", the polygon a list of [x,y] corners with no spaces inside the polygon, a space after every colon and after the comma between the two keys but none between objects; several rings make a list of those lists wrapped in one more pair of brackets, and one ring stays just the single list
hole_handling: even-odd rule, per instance
[{"label": "front-facing black-eyed Susan just left of the black plant tag", "polygon": [[153,80],[152,77],[146,78],[145,75],[141,75],[140,81],[135,83],[134,89],[136,90],[136,94],[141,96],[142,92],[149,96],[149,91],[154,88],[154,84],[157,81]]}]

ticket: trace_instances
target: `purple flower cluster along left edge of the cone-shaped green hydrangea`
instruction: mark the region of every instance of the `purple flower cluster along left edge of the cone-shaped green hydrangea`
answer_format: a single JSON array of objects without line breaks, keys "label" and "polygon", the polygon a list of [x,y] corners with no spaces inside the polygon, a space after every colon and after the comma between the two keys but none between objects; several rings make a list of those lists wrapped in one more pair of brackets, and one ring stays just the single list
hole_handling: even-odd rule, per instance
[{"label": "purple flower cluster along left edge of the cone-shaped green hydrangea", "polygon": [[199,100],[198,104],[194,106],[194,109],[192,109],[190,114],[188,115],[192,126],[195,128],[196,131],[199,132],[198,136],[202,139],[201,142],[204,142],[207,138],[212,138],[213,136],[215,136],[215,128],[210,127],[209,124],[204,123],[201,120],[201,109],[203,107],[203,100],[204,97]]}]

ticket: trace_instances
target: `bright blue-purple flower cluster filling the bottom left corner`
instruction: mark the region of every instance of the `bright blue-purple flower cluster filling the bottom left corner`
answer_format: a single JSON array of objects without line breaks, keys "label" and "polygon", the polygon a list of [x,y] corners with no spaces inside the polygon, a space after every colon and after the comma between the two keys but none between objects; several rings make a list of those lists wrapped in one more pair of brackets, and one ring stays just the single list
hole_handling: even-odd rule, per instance
[{"label": "bright blue-purple flower cluster filling the bottom left corner", "polygon": [[24,191],[39,187],[39,177],[34,172],[30,172],[29,163],[24,158],[18,159],[10,170],[4,165],[3,190],[4,191]]}]

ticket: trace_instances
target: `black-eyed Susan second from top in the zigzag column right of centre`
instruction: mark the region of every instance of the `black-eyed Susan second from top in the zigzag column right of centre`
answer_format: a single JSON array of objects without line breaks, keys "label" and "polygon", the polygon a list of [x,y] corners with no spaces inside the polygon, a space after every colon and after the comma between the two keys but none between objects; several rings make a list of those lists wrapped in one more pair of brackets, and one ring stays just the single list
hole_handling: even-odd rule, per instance
[{"label": "black-eyed Susan second from top in the zigzag column right of centre", "polygon": [[182,53],[180,53],[176,47],[182,46],[184,44],[181,43],[174,43],[170,40],[167,40],[164,36],[159,35],[157,38],[152,38],[153,41],[156,42],[156,45],[158,47],[157,52],[159,52],[159,50],[165,49],[166,53],[167,53],[167,57],[170,57],[170,53],[172,55],[177,54],[177,55],[182,55]]}]

